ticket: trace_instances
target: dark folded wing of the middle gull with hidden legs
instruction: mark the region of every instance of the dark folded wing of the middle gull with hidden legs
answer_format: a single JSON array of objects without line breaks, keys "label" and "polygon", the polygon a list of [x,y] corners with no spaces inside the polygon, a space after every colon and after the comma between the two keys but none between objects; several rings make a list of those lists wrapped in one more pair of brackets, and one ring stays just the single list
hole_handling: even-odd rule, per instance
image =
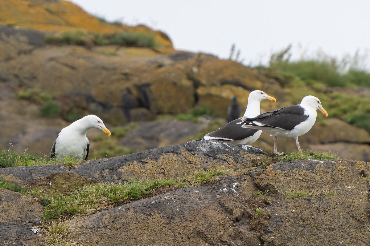
[{"label": "dark folded wing of the middle gull with hidden legs", "polygon": [[216,131],[208,133],[206,136],[212,137],[215,140],[225,140],[225,138],[232,140],[245,139],[250,136],[253,136],[258,130],[250,128],[242,128],[238,122],[241,122],[241,119],[234,119],[228,124],[218,128]]}]

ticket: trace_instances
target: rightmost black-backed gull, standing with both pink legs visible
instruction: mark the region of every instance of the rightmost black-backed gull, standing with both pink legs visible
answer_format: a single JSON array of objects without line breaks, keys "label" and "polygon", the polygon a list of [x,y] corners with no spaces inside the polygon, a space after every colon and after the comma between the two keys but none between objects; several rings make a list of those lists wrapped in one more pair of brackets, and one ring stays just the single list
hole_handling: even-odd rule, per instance
[{"label": "rightmost black-backed gull, standing with both pink legs visible", "polygon": [[238,124],[243,128],[252,128],[265,131],[274,137],[274,153],[277,152],[276,138],[294,138],[298,153],[302,155],[298,137],[308,132],[316,121],[316,111],[319,110],[327,117],[327,112],[320,100],[314,96],[306,96],[300,104],[280,108],[271,112],[260,114],[254,118],[242,117]]}]

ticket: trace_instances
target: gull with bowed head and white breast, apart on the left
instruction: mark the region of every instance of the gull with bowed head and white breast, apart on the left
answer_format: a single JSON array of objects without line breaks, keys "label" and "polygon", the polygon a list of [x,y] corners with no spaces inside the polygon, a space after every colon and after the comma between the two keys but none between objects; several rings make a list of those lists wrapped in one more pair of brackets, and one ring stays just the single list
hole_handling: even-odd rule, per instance
[{"label": "gull with bowed head and white breast, apart on the left", "polygon": [[96,115],[90,114],[63,128],[51,148],[50,159],[72,157],[77,160],[86,160],[89,154],[89,140],[86,133],[91,128],[101,129],[106,135],[111,132],[103,121]]}]

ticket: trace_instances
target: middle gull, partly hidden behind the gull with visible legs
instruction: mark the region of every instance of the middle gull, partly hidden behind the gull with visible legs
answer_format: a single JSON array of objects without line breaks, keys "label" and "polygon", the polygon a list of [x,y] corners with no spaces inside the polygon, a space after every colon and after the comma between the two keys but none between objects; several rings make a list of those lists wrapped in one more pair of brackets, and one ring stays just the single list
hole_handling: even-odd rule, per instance
[{"label": "middle gull, partly hidden behind the gull with visible legs", "polygon": [[[271,97],[263,91],[255,90],[249,93],[248,105],[243,117],[252,118],[261,113],[260,102],[263,100],[276,102],[275,97]],[[252,144],[255,142],[262,131],[255,129],[242,128],[238,122],[241,119],[234,119],[228,124],[218,128],[216,131],[210,132],[203,137],[203,140],[219,140],[223,142]]]}]

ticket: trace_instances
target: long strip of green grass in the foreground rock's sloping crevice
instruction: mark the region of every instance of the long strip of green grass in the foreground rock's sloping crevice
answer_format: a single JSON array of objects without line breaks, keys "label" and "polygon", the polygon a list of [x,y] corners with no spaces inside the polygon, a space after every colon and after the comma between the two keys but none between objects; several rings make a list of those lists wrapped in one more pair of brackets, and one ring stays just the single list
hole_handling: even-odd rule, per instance
[{"label": "long strip of green grass in the foreground rock's sloping crevice", "polygon": [[169,180],[137,181],[124,184],[98,183],[84,186],[69,195],[53,195],[49,198],[43,218],[56,219],[93,214],[132,200],[142,198],[160,187],[184,187],[185,183]]}]

